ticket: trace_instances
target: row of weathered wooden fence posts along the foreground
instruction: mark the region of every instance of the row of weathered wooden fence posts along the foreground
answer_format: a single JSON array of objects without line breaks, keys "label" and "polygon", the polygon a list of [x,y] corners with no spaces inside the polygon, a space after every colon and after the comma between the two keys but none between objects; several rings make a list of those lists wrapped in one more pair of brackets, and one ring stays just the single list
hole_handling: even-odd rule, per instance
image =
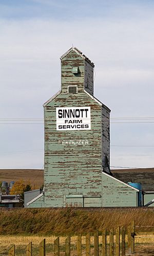
[{"label": "row of weathered wooden fence posts along the foreground", "polygon": [[8,253],[0,253],[0,256],[125,256],[134,253],[135,241],[140,233],[154,235],[154,232],[140,232],[139,228],[135,226],[134,221],[131,221],[127,227],[95,230],[87,234],[79,234],[75,239],[71,236],[56,237],[53,242],[47,244],[44,238],[38,246],[32,242],[24,248],[12,245]]}]

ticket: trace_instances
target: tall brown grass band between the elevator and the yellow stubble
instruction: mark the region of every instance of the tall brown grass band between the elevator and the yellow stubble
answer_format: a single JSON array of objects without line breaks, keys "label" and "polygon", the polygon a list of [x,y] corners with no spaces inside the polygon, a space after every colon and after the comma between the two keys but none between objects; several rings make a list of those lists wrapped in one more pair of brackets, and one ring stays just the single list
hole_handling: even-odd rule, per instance
[{"label": "tall brown grass band between the elevator and the yellow stubble", "polygon": [[[0,235],[76,235],[104,228],[127,227],[131,220],[137,226],[154,227],[154,209],[17,209],[0,211]],[[144,227],[143,231],[154,231]],[[140,231],[142,229],[140,228]]]}]

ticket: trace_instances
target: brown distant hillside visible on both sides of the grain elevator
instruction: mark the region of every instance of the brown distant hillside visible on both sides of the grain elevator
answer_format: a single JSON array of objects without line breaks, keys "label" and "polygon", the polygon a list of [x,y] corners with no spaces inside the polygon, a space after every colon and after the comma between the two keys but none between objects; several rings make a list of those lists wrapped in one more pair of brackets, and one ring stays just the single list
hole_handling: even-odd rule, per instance
[{"label": "brown distant hillside visible on both sides of the grain elevator", "polygon": [[[154,191],[154,168],[111,170],[113,177],[124,182],[142,183],[144,191]],[[30,181],[32,186],[40,187],[44,183],[44,170],[41,169],[0,169],[0,181]]]}]

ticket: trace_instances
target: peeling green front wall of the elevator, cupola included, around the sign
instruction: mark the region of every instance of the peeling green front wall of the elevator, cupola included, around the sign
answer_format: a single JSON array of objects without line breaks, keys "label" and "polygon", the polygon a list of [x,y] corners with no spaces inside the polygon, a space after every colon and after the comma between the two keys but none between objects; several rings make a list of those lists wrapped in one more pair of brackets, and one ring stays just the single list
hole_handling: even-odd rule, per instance
[{"label": "peeling green front wall of the elevator, cupola included, around the sign", "polygon": [[[100,199],[93,200],[102,195],[102,106],[84,91],[85,63],[74,50],[62,59],[62,91],[44,107],[45,207],[80,207],[82,199],[66,199],[67,195],[77,194],[92,197],[92,201],[85,199],[87,206],[102,206]],[[89,65],[88,62],[86,74],[92,72],[89,69],[88,73]],[[72,74],[72,66],[78,66],[80,73]],[[91,76],[92,73],[89,80]],[[69,85],[78,86],[78,93],[69,94]],[[88,86],[92,94],[93,83]],[[56,107],[90,107],[91,130],[57,131]]]}]

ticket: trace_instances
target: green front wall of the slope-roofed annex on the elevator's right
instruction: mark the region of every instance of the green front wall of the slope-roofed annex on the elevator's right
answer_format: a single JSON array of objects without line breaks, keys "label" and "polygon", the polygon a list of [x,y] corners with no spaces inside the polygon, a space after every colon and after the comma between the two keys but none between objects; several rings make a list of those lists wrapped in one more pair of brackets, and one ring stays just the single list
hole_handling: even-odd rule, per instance
[{"label": "green front wall of the slope-roofed annex on the elevator's right", "polygon": [[120,181],[102,175],[102,206],[103,207],[137,207],[137,191]]}]

